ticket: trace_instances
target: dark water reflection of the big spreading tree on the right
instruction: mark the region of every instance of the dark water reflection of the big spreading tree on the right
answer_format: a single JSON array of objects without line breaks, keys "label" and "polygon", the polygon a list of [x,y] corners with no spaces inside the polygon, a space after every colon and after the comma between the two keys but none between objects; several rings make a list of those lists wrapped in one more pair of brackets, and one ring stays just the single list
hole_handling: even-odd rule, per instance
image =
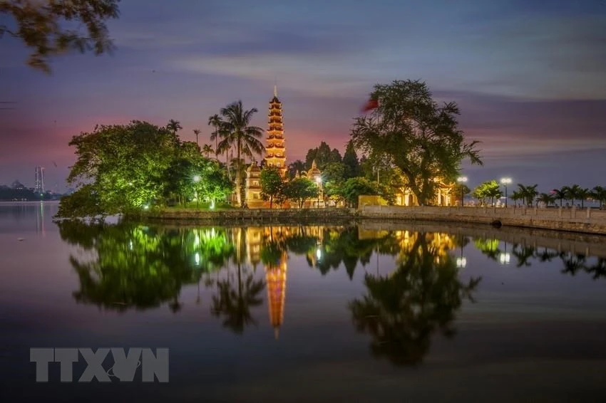
[{"label": "dark water reflection of the big spreading tree on the right", "polygon": [[471,298],[481,278],[458,280],[456,263],[431,245],[431,234],[418,234],[409,253],[389,276],[364,276],[368,293],[349,303],[354,325],[373,338],[371,351],[395,365],[423,360],[431,335],[455,334],[452,321],[463,298]]}]

